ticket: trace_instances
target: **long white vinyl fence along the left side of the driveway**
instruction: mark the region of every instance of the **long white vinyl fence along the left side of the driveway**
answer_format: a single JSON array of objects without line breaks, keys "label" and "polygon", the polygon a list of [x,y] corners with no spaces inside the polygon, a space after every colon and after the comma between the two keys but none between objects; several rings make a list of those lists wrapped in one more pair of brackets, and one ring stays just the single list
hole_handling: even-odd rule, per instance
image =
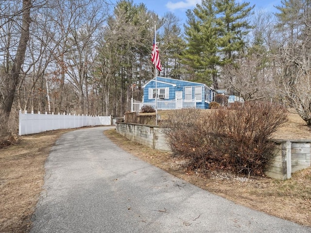
[{"label": "long white vinyl fence along the left side of the driveway", "polygon": [[25,135],[49,130],[72,129],[84,126],[111,125],[111,116],[76,116],[54,114],[27,114],[19,111],[18,134]]}]

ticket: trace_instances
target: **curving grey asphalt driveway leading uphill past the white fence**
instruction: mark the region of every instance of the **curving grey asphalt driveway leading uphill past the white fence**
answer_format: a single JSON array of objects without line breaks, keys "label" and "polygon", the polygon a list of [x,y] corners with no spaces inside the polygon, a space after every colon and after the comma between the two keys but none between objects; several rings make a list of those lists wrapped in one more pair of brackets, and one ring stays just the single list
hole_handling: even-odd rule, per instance
[{"label": "curving grey asphalt driveway leading uphill past the white fence", "polygon": [[106,129],[57,140],[31,233],[311,233],[141,161],[105,137]]}]

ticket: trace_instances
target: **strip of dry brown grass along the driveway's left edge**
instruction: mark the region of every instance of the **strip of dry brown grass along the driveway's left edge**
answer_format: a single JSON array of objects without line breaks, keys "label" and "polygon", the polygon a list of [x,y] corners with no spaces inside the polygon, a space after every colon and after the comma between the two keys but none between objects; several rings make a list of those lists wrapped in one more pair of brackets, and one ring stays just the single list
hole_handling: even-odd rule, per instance
[{"label": "strip of dry brown grass along the driveway's left edge", "polygon": [[44,163],[56,139],[69,130],[21,136],[0,149],[0,232],[25,233],[43,185]]}]

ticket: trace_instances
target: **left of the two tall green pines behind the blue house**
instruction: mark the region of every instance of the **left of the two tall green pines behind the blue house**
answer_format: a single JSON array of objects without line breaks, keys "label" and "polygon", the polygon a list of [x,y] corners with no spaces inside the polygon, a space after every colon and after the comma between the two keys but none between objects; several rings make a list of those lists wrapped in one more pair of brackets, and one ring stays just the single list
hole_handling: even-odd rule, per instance
[{"label": "left of the two tall green pines behind the blue house", "polygon": [[[217,54],[217,30],[215,9],[211,1],[203,0],[193,11],[187,11],[185,39],[187,48],[182,53],[182,63],[186,66],[191,81],[211,84],[217,75],[216,67],[220,57]],[[217,79],[213,79],[217,86]]]}]

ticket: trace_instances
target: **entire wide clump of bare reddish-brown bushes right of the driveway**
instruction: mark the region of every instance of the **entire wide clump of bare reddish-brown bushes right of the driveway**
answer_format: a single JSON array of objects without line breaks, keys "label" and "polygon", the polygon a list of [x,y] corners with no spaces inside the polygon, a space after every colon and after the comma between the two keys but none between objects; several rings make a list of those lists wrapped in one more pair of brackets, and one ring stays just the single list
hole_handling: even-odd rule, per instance
[{"label": "entire wide clump of bare reddish-brown bushes right of the driveway", "polygon": [[272,156],[269,140],[286,122],[286,110],[265,102],[246,102],[236,109],[175,111],[164,132],[175,155],[190,169],[221,168],[261,175]]}]

